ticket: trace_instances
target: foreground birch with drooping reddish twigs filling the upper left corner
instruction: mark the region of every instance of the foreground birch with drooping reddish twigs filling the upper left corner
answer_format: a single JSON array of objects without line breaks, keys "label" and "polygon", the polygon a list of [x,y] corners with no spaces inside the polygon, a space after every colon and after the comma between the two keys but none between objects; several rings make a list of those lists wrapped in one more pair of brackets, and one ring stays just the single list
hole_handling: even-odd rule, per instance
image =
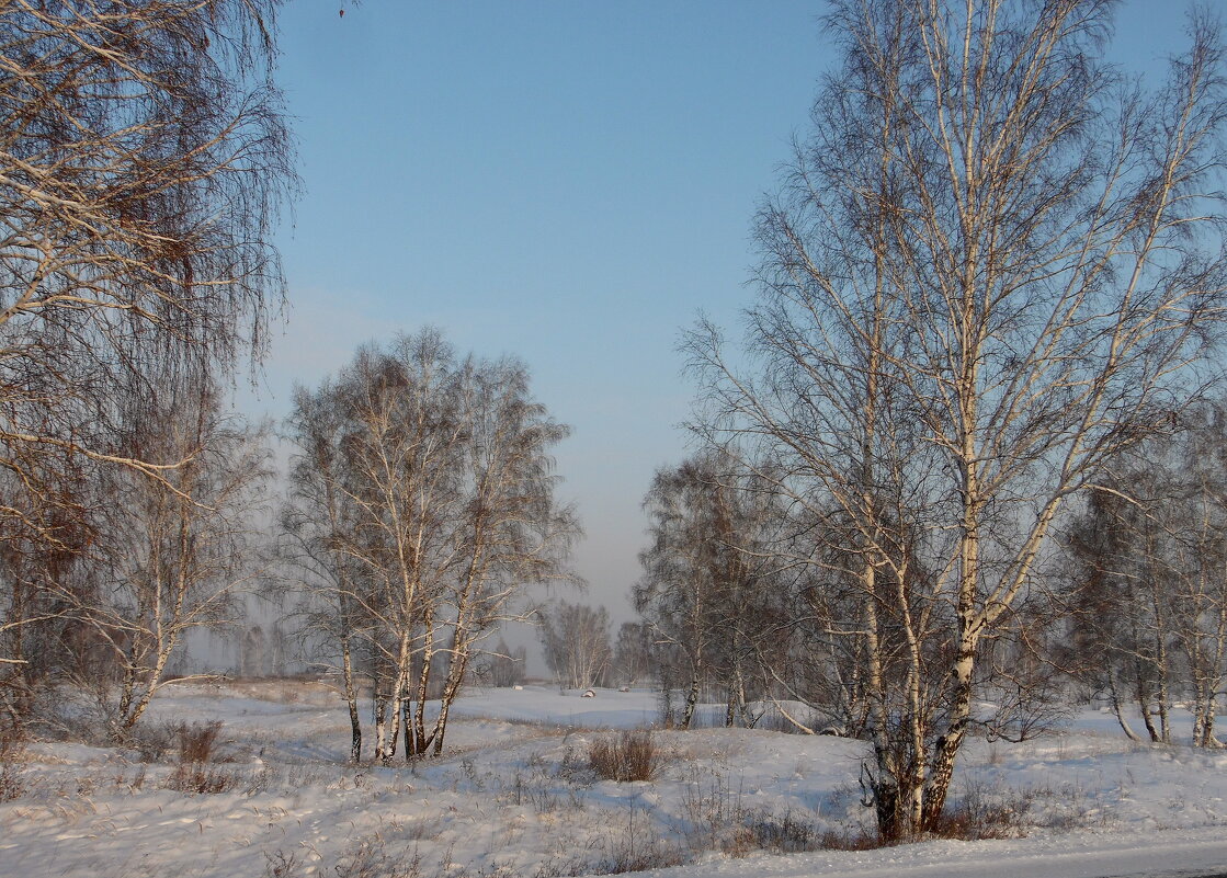
[{"label": "foreground birch with drooping reddish twigs filling the upper left corner", "polygon": [[[263,351],[294,186],[276,6],[0,2],[0,541],[27,571],[91,541],[93,471],[182,462],[126,448],[124,392]],[[55,564],[0,586],[6,632],[56,612]]]}]

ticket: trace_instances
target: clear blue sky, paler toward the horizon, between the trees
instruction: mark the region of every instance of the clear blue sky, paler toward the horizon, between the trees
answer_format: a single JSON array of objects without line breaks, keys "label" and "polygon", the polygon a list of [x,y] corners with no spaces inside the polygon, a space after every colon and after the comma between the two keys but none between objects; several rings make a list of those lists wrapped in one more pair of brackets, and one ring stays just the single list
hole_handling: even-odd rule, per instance
[{"label": "clear blue sky, paler toward the horizon, between the trees", "polygon": [[[1183,6],[1126,4],[1113,56],[1175,50]],[[294,380],[428,324],[461,352],[519,356],[574,428],[557,460],[587,600],[629,618],[640,499],[687,451],[679,334],[701,309],[735,330],[752,299],[751,217],[828,64],[822,10],[290,2],[280,80],[306,194],[255,407],[280,418]]]}]

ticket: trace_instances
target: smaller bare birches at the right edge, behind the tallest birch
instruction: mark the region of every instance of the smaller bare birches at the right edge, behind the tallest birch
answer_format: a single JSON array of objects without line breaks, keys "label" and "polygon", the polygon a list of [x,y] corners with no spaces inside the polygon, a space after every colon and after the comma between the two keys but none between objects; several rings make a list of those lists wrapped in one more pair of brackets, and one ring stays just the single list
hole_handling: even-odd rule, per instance
[{"label": "smaller bare birches at the right edge, behind the tallest birch", "polygon": [[1083,678],[1125,733],[1133,703],[1171,743],[1172,704],[1191,705],[1193,743],[1218,747],[1227,683],[1227,457],[1221,403],[1185,412],[1171,435],[1120,455],[1069,529],[1072,634]]}]

